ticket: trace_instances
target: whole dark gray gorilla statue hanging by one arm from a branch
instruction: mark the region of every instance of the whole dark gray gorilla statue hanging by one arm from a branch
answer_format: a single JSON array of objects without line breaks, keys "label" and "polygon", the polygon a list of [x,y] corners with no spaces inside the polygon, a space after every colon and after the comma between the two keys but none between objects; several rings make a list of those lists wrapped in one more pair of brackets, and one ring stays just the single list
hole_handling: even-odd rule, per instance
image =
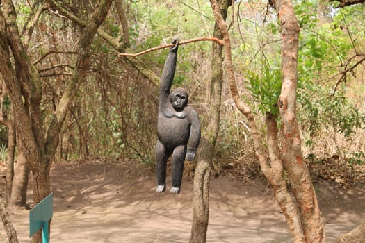
[{"label": "whole dark gray gorilla statue hanging by one arm from a branch", "polygon": [[158,140],[156,144],[156,192],[166,190],[166,163],[172,155],[172,187],[170,193],[179,193],[184,162],[193,161],[200,142],[200,121],[197,112],[188,106],[188,92],[178,87],[170,93],[175,75],[179,41],[174,40],[163,67],[161,77]]}]

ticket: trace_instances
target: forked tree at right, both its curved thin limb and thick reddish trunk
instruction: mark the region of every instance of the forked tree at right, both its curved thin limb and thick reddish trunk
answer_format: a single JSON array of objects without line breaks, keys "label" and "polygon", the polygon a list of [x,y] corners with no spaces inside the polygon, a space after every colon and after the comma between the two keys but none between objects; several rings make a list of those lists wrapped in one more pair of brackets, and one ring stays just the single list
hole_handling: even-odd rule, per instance
[{"label": "forked tree at right, both its curved thin limb and thick reddish trunk", "polygon": [[[282,158],[279,158],[279,149],[276,142],[277,124],[275,124],[274,122],[275,119],[273,119],[273,117],[270,117],[270,114],[268,117],[266,117],[266,125],[268,126],[267,142],[270,156],[270,163],[268,164],[268,162],[266,161],[265,152],[263,151],[263,147],[260,144],[261,137],[257,132],[254,115],[252,114],[250,107],[241,100],[236,86],[227,24],[225,24],[225,21],[222,19],[222,16],[218,11],[218,4],[216,3],[216,0],[211,0],[211,6],[213,8],[213,13],[216,17],[216,21],[218,22],[220,30],[223,34],[223,40],[225,44],[225,58],[227,62],[227,76],[234,103],[236,104],[238,110],[240,110],[243,115],[245,115],[245,117],[247,117],[248,119],[248,126],[250,127],[252,136],[254,137],[254,148],[256,150],[257,157],[259,158],[261,169],[266,178],[268,178],[270,185],[273,187],[275,197],[280,203],[280,206],[286,216],[286,221],[289,225],[291,234],[293,235],[293,240],[295,242],[325,242],[323,224],[321,221],[320,212],[318,210],[316,195],[314,194],[313,185],[311,185],[309,172],[307,171],[305,164],[302,163],[300,151],[300,135],[299,133],[296,133],[299,131],[298,121],[296,121],[295,117],[295,94],[297,81],[296,66],[299,25],[293,12],[293,6],[290,0],[277,1],[277,6],[279,6],[279,8],[277,8],[277,11],[279,12],[279,19],[282,23],[282,63],[284,76],[282,96],[280,98],[281,100],[279,99],[279,108],[281,108],[280,111],[282,116],[284,115],[284,118],[282,118],[282,127],[285,127],[286,125],[293,125],[291,124],[291,122],[294,121],[294,126],[291,127],[297,128],[297,130],[294,131],[295,133],[288,133],[288,130],[285,130],[285,128],[283,129],[284,143],[286,145],[286,147],[283,148],[283,159],[284,165],[286,165],[286,169],[288,170],[290,181],[291,183],[293,183],[292,185],[294,195],[298,203],[300,213],[298,213],[298,208],[295,206],[295,203],[291,199],[291,195],[287,191],[286,185],[282,178],[283,165]],[[291,84],[292,86],[288,87],[289,84]],[[291,94],[291,99],[289,99],[289,101],[286,99],[286,95],[288,94],[288,92],[289,94]],[[285,106],[283,106],[282,102],[286,102]],[[288,103],[291,107],[291,109],[289,109],[291,111],[290,114],[294,115],[290,117],[290,119],[288,119],[289,116],[287,112]],[[293,119],[294,117],[295,119]],[[295,141],[286,140],[291,137],[295,138]],[[300,170],[297,171],[295,165],[289,163],[293,161],[290,160],[291,158],[293,158],[292,156],[290,156],[290,153],[298,152],[298,149],[300,151],[300,154],[296,154],[294,158],[295,161],[300,164],[301,168],[305,168],[300,172],[300,175],[302,177],[299,177],[298,174],[295,174]],[[304,181],[300,181],[298,180],[298,178],[302,178],[304,179]],[[309,181],[307,180],[308,178]]]}]

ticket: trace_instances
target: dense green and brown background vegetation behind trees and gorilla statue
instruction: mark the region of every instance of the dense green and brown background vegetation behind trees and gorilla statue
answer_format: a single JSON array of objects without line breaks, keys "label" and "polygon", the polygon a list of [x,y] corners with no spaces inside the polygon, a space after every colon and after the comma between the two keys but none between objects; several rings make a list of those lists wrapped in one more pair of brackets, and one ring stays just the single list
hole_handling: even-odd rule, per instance
[{"label": "dense green and brown background vegetation behind trees and gorilla statue", "polygon": [[[34,11],[33,1],[15,2],[18,24],[23,26],[29,22],[29,12]],[[69,10],[87,16],[93,4],[79,1],[70,4]],[[298,116],[311,175],[353,185],[365,181],[365,6],[335,7],[336,3],[323,1],[295,1],[301,27]],[[123,8],[128,19],[127,51],[131,53],[170,43],[177,37],[187,40],[213,33],[209,1],[129,0],[123,1]],[[42,76],[44,117],[54,112],[67,85],[79,37],[72,22],[54,15],[57,13],[41,15],[28,51]],[[236,80],[243,99],[262,118],[266,111],[275,115],[281,89],[276,13],[266,1],[236,1],[233,12],[229,9],[230,22]],[[102,29],[113,37],[122,36],[115,8]],[[46,55],[49,51],[53,53]],[[167,51],[154,51],[140,59],[160,76]],[[133,159],[153,166],[159,83],[118,57],[102,37],[95,37],[91,58],[89,74],[63,124],[56,160],[92,156]],[[204,113],[209,110],[210,58],[210,42],[184,45],[179,49],[175,74],[175,85],[188,88],[190,105],[200,111],[203,127],[207,125]],[[10,101],[3,94],[1,108],[9,113]],[[236,110],[225,86],[221,106],[215,173],[233,171],[243,179],[258,176],[260,170],[245,117]],[[1,133],[3,160],[7,153],[5,126]]]}]

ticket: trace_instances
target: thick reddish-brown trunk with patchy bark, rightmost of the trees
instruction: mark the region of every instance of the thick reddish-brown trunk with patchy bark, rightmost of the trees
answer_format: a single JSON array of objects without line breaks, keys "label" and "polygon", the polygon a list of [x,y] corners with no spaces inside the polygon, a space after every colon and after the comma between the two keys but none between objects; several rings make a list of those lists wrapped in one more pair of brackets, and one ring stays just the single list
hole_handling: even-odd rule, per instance
[{"label": "thick reddish-brown trunk with patchy bark, rightmost of the trees", "polygon": [[282,153],[293,194],[298,203],[307,242],[325,242],[323,221],[307,165],[302,158],[296,117],[298,44],[300,26],[291,0],[273,1],[282,26],[282,92],[278,106],[282,118]]}]

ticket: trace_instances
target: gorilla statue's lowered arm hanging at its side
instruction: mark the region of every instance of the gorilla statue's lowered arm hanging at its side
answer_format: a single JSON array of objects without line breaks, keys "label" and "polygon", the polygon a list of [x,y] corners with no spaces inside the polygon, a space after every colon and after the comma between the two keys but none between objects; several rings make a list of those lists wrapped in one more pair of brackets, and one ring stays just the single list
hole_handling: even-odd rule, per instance
[{"label": "gorilla statue's lowered arm hanging at its side", "polygon": [[191,126],[186,160],[193,161],[195,159],[197,146],[199,146],[200,142],[200,121],[199,116],[197,115],[197,112],[195,112],[195,110],[190,110],[189,119]]}]

